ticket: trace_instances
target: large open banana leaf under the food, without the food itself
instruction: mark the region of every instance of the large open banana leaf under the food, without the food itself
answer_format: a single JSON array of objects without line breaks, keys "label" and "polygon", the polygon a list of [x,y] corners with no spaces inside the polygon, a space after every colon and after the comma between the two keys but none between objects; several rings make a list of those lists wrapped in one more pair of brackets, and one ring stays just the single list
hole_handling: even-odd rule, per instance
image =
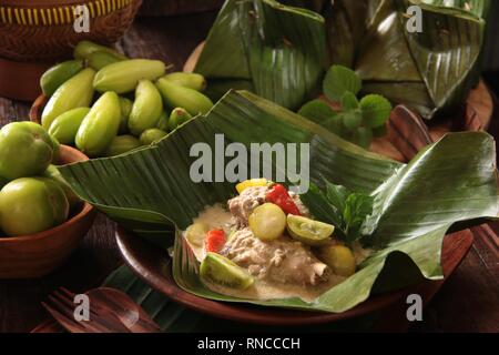
[{"label": "large open banana leaf under the food, without the food itself", "polygon": [[[376,252],[355,275],[313,303],[297,298],[238,300],[206,288],[197,275],[198,262],[179,231],[185,230],[206,205],[225,202],[235,194],[234,183],[193,183],[190,178],[194,143],[207,143],[215,150],[214,164],[225,163],[224,156],[216,154],[220,148],[215,146],[215,134],[221,133],[225,145],[309,143],[310,181],[322,185],[326,178],[375,195],[374,214],[365,227],[370,234],[366,242]],[[231,91],[207,115],[189,121],[151,148],[60,170],[82,199],[121,223],[126,221],[128,229],[152,236],[162,246],[171,245],[169,232],[176,226],[173,274],[184,290],[220,301],[343,312],[371,293],[398,288],[419,281],[421,275],[441,278],[440,250],[448,229],[457,222],[498,215],[495,161],[493,139],[487,133],[467,132],[448,134],[409,164],[401,164],[348,143],[255,94]],[[274,175],[286,171],[278,161],[272,164]]]}]

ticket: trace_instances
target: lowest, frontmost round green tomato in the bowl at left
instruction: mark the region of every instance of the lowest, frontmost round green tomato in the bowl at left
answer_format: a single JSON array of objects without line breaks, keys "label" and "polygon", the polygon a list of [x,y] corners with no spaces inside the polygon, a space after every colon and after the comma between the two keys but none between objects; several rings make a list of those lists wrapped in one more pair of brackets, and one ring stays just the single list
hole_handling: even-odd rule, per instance
[{"label": "lowest, frontmost round green tomato in the bowl at left", "polygon": [[0,225],[9,236],[39,233],[68,220],[69,203],[59,184],[21,178],[0,191]]}]

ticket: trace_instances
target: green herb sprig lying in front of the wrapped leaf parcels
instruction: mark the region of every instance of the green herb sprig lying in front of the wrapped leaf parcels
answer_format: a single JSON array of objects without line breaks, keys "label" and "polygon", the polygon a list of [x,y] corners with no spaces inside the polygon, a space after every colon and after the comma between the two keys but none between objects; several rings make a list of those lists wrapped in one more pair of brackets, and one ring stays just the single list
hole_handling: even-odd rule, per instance
[{"label": "green herb sprig lying in front of the wrapped leaf parcels", "polygon": [[338,102],[334,110],[323,100],[305,103],[298,113],[363,148],[369,148],[373,136],[386,134],[390,102],[381,95],[368,94],[358,100],[363,82],[353,70],[333,65],[323,83],[325,97]]}]

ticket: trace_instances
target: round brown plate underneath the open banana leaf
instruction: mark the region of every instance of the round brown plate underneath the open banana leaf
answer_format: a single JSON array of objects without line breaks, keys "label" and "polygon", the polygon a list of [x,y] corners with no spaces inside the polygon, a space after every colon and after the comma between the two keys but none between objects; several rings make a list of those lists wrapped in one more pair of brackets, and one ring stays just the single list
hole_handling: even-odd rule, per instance
[{"label": "round brown plate underneath the open banana leaf", "polygon": [[[193,295],[179,287],[172,275],[171,258],[166,251],[133,235],[119,226],[116,242],[126,264],[151,287],[185,307],[215,317],[263,325],[312,325],[345,321],[376,311],[389,310],[405,301],[405,295],[418,290],[418,294],[428,294],[429,301],[441,286],[442,281],[424,283],[397,292],[369,297],[364,303],[343,313],[293,311],[277,307],[245,305],[241,303],[217,302]],[[466,256],[472,243],[469,231],[447,235],[444,242],[441,263],[446,278]],[[405,303],[404,303],[405,304]]]}]

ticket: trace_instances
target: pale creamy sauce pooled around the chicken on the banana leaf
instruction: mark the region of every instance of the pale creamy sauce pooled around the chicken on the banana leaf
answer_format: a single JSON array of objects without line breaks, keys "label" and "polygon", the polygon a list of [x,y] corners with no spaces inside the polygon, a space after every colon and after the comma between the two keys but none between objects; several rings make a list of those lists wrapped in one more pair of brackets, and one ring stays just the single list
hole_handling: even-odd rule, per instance
[{"label": "pale creamy sauce pooled around the chicken on the banana leaf", "polygon": [[[231,231],[234,230],[237,223],[234,216],[221,204],[207,206],[193,222],[205,223],[210,229],[222,229],[225,231],[226,235],[228,235]],[[204,244],[201,246],[196,246],[190,243],[187,239],[185,239],[185,241],[191,246],[196,258],[202,262],[206,255]],[[354,255],[356,260],[361,261],[368,255],[368,251],[357,245],[354,248]],[[327,281],[320,282],[315,286],[272,282],[258,278],[256,276],[254,284],[246,290],[225,287],[214,283],[206,283],[206,286],[213,292],[240,298],[264,301],[298,297],[305,302],[312,302],[323,293],[345,280],[345,277],[335,275],[333,273],[329,273],[327,276]]]}]

